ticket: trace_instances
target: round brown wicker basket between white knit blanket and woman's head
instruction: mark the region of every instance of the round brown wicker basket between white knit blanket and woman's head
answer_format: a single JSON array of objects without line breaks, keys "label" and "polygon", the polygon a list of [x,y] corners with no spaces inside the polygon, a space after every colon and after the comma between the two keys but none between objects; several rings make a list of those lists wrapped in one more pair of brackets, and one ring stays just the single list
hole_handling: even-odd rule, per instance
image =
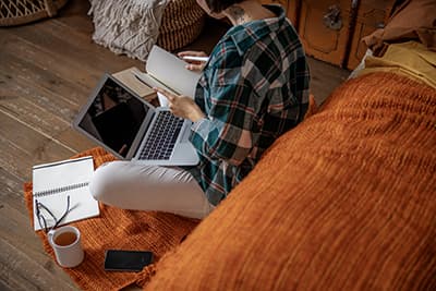
[{"label": "round brown wicker basket between white knit blanket and woman's head", "polygon": [[171,0],[164,12],[157,45],[173,51],[191,44],[202,33],[205,15],[195,0]]}]

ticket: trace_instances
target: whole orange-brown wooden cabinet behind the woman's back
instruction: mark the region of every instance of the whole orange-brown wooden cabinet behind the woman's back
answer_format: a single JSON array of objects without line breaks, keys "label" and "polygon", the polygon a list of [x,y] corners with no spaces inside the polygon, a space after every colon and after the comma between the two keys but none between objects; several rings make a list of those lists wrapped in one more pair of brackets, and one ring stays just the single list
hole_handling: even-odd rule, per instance
[{"label": "whole orange-brown wooden cabinet behind the woman's back", "polygon": [[[276,0],[287,8],[307,56],[350,70],[365,54],[361,41],[383,27],[393,0]],[[284,1],[284,2],[283,2]],[[264,0],[269,2],[269,0]],[[283,3],[282,3],[283,2]],[[277,3],[277,2],[276,2]]]}]

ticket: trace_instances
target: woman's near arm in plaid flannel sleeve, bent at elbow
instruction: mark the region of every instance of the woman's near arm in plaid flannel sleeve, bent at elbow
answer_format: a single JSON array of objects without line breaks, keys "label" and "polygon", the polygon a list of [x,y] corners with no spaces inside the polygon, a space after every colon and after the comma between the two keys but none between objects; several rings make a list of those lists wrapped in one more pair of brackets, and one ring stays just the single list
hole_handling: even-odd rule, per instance
[{"label": "woman's near arm in plaid flannel sleeve, bent at elbow", "polygon": [[204,157],[239,166],[259,135],[258,98],[242,75],[243,59],[237,50],[227,50],[213,61],[198,83],[207,100],[207,117],[193,124],[191,142]]}]

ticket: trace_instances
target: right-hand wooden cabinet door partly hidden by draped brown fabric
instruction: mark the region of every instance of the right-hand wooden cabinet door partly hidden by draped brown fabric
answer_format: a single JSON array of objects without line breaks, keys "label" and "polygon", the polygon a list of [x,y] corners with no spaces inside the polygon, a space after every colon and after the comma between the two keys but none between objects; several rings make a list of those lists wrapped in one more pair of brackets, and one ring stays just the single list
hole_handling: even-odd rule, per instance
[{"label": "right-hand wooden cabinet door partly hidden by draped brown fabric", "polygon": [[377,28],[385,26],[389,13],[393,5],[392,1],[362,0],[358,9],[354,33],[350,47],[350,56],[347,68],[353,70],[362,61],[367,47],[362,41],[362,37],[372,34]]}]

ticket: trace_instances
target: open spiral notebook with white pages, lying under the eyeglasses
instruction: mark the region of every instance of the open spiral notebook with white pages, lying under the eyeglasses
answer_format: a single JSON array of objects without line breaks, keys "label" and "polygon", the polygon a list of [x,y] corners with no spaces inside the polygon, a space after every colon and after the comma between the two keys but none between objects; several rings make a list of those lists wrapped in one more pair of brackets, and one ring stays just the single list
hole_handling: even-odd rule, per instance
[{"label": "open spiral notebook with white pages, lying under the eyeglasses", "polygon": [[[59,219],[66,209],[70,195],[71,211],[59,226],[99,215],[98,202],[89,193],[94,172],[93,157],[69,159],[33,167],[34,229],[39,230],[36,201],[44,204]],[[41,210],[48,227],[55,222]]]}]

